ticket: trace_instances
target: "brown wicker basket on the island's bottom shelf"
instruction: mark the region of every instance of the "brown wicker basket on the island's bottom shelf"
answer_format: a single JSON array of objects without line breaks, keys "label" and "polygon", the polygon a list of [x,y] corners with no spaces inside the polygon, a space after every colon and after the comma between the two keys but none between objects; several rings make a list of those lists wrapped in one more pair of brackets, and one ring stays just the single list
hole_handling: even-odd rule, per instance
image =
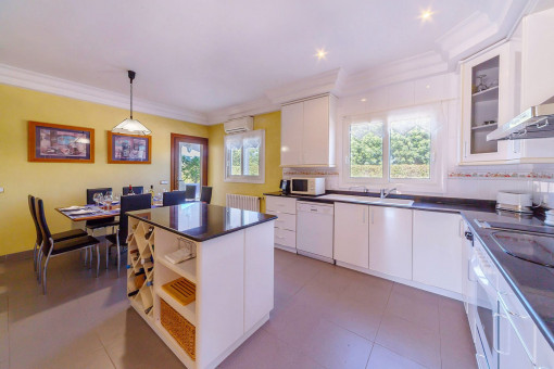
[{"label": "brown wicker basket on the island's bottom shelf", "polygon": [[162,326],[169,332],[175,341],[177,341],[182,349],[185,349],[192,360],[196,360],[196,327],[171,307],[163,298],[160,298],[160,320]]}]

